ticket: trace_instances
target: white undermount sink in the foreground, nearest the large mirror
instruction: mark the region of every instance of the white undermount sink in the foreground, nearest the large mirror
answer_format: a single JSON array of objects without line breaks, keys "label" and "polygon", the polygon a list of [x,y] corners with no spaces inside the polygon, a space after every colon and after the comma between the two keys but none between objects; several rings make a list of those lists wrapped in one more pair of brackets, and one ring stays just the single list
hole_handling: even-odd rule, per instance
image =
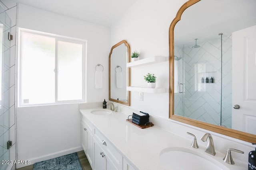
[{"label": "white undermount sink in the foreground, nearest the large mirror", "polygon": [[162,150],[160,160],[164,170],[226,170],[210,156],[180,147]]}]

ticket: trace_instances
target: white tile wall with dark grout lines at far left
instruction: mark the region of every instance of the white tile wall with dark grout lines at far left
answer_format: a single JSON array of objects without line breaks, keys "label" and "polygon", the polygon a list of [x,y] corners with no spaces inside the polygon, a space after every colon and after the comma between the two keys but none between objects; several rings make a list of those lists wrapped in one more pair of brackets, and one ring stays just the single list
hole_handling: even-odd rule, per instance
[{"label": "white tile wall with dark grout lines at far left", "polygon": [[[11,0],[0,0],[0,5],[6,11],[8,17],[12,20],[10,29],[6,30],[5,35],[8,35],[8,32],[11,32],[13,35],[13,40],[10,45],[5,45],[4,49],[4,96],[7,96],[4,99],[4,119],[8,119],[8,125],[5,124],[7,129],[6,133],[0,137],[2,139],[2,145],[4,149],[0,149],[3,151],[4,155],[0,155],[0,160],[15,160],[16,157],[16,139],[15,139],[15,54],[16,54],[16,10],[17,4]],[[9,23],[8,23],[9,24]],[[7,56],[10,56],[7,57]],[[10,129],[9,129],[10,128]],[[12,147],[10,148],[10,152],[7,152],[6,142],[8,140],[12,141]],[[2,167],[0,167],[1,169]],[[14,166],[10,165],[7,169],[14,169]]]}]

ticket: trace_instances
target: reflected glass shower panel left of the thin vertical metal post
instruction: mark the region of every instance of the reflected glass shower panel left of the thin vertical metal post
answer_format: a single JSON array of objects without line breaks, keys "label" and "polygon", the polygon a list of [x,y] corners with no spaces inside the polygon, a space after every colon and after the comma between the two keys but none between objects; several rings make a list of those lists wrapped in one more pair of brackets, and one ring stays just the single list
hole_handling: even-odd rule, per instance
[{"label": "reflected glass shower panel left of the thin vertical metal post", "polygon": [[216,37],[174,47],[175,115],[221,125],[220,42]]}]

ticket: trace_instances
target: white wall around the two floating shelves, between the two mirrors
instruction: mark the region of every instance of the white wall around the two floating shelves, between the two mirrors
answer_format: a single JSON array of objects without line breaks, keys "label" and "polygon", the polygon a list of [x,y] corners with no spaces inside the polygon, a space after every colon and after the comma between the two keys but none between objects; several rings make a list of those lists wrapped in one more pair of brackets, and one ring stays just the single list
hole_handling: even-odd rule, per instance
[{"label": "white wall around the two floating shelves, between the two mirrors", "polygon": [[[130,44],[131,53],[137,50],[140,59],[169,55],[169,26],[180,6],[186,0],[138,0],[111,27],[111,45],[122,39]],[[139,101],[138,92],[131,92],[131,107],[151,115],[168,119],[169,111],[169,64],[168,62],[131,68],[131,86],[147,86],[144,75],[148,72],[157,77],[156,87],[164,87],[164,94],[144,93]]]}]

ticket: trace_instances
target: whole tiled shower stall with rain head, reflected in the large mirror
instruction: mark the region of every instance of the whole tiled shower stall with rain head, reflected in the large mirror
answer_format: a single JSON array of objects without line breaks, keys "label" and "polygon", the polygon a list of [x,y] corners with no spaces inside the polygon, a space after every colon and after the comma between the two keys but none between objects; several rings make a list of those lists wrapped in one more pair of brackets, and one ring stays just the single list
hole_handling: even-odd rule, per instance
[{"label": "whole tiled shower stall with rain head, reflected in the large mirror", "polygon": [[231,36],[195,39],[174,55],[174,114],[231,128]]}]

